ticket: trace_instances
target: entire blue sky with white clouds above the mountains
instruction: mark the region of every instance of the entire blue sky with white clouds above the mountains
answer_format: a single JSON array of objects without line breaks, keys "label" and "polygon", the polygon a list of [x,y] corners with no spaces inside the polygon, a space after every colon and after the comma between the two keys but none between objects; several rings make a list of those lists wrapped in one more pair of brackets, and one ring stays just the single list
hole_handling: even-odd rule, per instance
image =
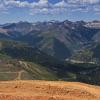
[{"label": "entire blue sky with white clouds above the mountains", "polygon": [[100,0],[0,0],[0,24],[100,20]]}]

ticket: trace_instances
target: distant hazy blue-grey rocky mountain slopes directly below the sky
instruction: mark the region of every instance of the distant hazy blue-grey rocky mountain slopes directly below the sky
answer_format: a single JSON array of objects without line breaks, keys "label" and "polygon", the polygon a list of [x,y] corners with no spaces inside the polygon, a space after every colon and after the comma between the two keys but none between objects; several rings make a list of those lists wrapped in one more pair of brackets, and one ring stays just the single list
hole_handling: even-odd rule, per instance
[{"label": "distant hazy blue-grey rocky mountain slopes directly below the sky", "polygon": [[99,42],[100,22],[51,21],[2,25],[0,38],[24,41],[59,59],[66,59],[88,43]]}]

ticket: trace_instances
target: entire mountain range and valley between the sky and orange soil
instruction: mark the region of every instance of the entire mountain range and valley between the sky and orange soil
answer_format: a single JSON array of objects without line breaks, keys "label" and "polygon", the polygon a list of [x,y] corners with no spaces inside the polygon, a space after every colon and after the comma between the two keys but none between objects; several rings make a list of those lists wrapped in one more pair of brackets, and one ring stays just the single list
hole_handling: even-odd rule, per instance
[{"label": "entire mountain range and valley between the sky and orange soil", "polygon": [[0,25],[0,79],[100,85],[100,21]]}]

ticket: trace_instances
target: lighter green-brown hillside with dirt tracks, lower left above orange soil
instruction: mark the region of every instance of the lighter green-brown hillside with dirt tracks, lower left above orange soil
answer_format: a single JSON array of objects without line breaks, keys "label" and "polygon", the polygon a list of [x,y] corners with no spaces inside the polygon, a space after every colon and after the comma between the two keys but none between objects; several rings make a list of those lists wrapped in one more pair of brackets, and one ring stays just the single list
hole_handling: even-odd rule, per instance
[{"label": "lighter green-brown hillside with dirt tracks, lower left above orange soil", "polygon": [[56,80],[56,75],[42,65],[0,54],[0,80],[32,79]]}]

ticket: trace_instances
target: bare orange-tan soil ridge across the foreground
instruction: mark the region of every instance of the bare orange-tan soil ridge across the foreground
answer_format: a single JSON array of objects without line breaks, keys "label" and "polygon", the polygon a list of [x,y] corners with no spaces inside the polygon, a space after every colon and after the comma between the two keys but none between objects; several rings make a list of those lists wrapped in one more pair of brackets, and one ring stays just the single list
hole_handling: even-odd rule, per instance
[{"label": "bare orange-tan soil ridge across the foreground", "polygon": [[100,87],[78,82],[1,81],[0,100],[100,100]]}]

